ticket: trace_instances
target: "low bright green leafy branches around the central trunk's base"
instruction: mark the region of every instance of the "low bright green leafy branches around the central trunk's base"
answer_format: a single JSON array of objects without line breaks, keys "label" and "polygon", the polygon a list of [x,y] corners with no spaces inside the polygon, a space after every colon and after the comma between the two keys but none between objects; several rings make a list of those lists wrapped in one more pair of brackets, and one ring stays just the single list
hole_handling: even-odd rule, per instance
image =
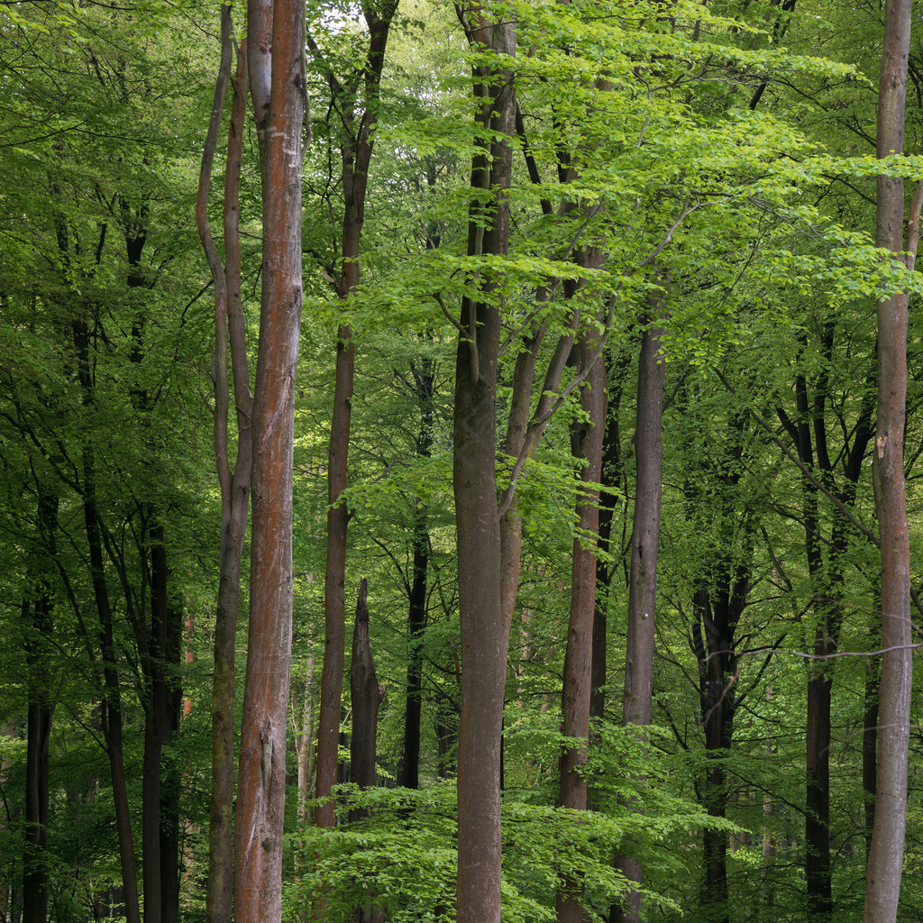
[{"label": "low bright green leafy branches around the central trunk's base", "polygon": [[[520,717],[509,736],[509,761],[541,760],[543,751],[545,756],[555,751],[557,763],[557,752],[565,740],[542,724],[541,718],[537,723],[523,723]],[[618,778],[628,763],[652,776],[659,774],[659,782],[665,779],[644,757],[639,741],[626,732],[607,729],[599,752],[605,756],[589,772],[593,786],[601,792],[621,791],[624,783]],[[336,797],[342,821],[337,830],[307,827],[292,836],[301,871],[299,880],[286,891],[285,918],[309,918],[312,908],[321,903],[331,920],[345,920],[359,906],[383,907],[389,919],[401,923],[453,918],[454,785],[419,791],[359,791],[355,786],[340,786]],[[634,841],[643,832],[643,855],[666,878],[676,872],[677,860],[663,849],[665,840],[677,831],[716,822],[688,801],[653,793],[650,801],[645,799],[642,818],[619,808],[617,800],[606,812],[556,809],[543,800],[521,800],[516,790],[504,795],[504,923],[550,923],[555,918],[555,893],[562,876],[585,882],[587,909],[594,920],[605,919],[609,906],[626,887],[612,867],[617,844],[626,837]],[[362,821],[345,822],[354,809],[369,814]],[[723,826],[733,829],[729,823]],[[677,909],[655,888],[646,889],[645,894],[656,905]]]}]

